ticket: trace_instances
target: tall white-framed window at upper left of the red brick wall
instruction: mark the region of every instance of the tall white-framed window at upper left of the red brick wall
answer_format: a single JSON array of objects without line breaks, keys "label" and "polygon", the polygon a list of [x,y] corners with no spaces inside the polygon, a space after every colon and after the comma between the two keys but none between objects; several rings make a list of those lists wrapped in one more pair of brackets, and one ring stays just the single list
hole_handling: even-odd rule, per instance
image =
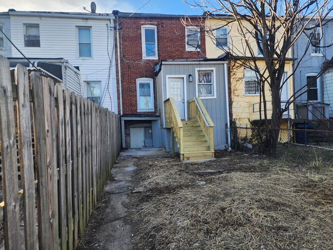
[{"label": "tall white-framed window at upper left of the red brick wall", "polygon": [[153,25],[141,26],[142,59],[157,59],[157,29]]}]

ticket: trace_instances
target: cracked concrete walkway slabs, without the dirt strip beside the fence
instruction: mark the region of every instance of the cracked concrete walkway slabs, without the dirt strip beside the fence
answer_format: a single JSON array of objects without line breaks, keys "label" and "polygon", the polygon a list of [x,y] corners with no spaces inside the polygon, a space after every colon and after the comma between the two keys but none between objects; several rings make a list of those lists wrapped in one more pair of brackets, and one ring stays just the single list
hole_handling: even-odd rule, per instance
[{"label": "cracked concrete walkway slabs, without the dirt strip beside the fence", "polygon": [[[95,243],[98,249],[132,250],[136,249],[131,244],[135,232],[126,222],[131,192],[134,190],[132,176],[137,169],[135,161],[141,157],[165,156],[165,152],[158,148],[130,149],[120,152],[116,164],[111,171],[113,180],[108,181],[105,191],[111,194],[103,211],[105,223],[93,232],[99,240]],[[112,179],[112,178],[111,178]]]}]

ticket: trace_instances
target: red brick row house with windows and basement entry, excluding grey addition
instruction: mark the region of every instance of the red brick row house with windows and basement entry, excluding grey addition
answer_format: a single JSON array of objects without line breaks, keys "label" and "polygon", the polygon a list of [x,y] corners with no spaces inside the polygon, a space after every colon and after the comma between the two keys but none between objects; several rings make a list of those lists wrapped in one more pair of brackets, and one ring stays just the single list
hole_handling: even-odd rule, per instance
[{"label": "red brick row house with windows and basement entry, excluding grey addition", "polygon": [[180,15],[112,14],[122,147],[162,147],[154,65],[164,59],[205,58],[204,21],[188,16],[184,25]]}]

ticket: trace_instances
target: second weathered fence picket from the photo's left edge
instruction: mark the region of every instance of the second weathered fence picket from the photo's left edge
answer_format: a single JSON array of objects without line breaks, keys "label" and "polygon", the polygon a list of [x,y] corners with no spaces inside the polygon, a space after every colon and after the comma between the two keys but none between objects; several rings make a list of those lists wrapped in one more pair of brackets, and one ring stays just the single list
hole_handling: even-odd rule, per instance
[{"label": "second weathered fence picket from the photo's left edge", "polygon": [[23,187],[23,214],[26,249],[35,250],[37,242],[35,183],[33,167],[33,149],[31,141],[31,116],[29,102],[28,70],[22,65],[16,66],[15,81],[17,85],[17,121],[18,151],[21,181]]}]

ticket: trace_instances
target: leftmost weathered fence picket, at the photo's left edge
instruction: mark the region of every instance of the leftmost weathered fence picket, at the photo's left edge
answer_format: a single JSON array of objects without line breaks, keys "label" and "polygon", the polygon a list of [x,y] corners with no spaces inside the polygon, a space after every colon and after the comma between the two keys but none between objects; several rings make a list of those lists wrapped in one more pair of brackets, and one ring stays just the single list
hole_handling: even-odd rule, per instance
[{"label": "leftmost weathered fence picket, at the photo's left edge", "polygon": [[2,150],[2,181],[4,207],[4,233],[6,249],[20,248],[19,200],[17,179],[16,135],[9,61],[0,57],[0,141]]}]

